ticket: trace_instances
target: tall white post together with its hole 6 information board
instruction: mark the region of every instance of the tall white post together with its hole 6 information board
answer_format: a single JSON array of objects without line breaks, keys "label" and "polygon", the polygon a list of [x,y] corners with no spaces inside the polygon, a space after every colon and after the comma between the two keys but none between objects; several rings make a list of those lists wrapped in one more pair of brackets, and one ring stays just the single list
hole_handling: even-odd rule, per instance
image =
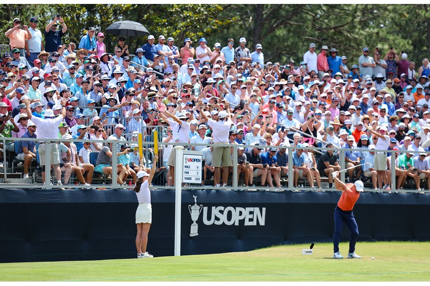
[{"label": "tall white post together with its hole 6 information board", "polygon": [[202,153],[175,147],[175,256],[181,256],[182,183],[202,183]]}]

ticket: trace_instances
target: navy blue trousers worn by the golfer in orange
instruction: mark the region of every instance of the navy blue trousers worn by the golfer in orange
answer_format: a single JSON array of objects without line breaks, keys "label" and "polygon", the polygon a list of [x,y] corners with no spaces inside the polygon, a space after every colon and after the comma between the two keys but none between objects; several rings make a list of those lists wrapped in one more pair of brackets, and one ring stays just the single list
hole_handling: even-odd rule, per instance
[{"label": "navy blue trousers worn by the golfer in orange", "polygon": [[343,222],[347,224],[349,231],[351,232],[351,237],[349,238],[349,253],[355,251],[355,243],[358,238],[358,225],[355,221],[354,214],[352,211],[343,212],[337,206],[334,209],[334,235],[333,235],[333,251],[336,253],[339,251],[340,235],[342,233]]}]

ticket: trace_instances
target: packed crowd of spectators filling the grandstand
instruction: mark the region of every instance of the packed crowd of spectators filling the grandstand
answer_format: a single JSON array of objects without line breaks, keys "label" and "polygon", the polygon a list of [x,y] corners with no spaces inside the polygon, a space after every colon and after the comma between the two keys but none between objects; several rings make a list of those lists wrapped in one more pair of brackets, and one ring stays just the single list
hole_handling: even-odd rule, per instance
[{"label": "packed crowd of spectators filling the grandstand", "polygon": [[[128,177],[135,182],[136,172],[151,163],[139,157],[137,144],[118,143],[118,164],[112,167],[112,146],[92,140],[136,141],[136,133],[142,133],[152,141],[158,130],[162,143],[191,143],[189,149],[201,151],[203,184],[213,176],[216,187],[226,186],[232,156],[237,156],[245,186],[254,185],[258,177],[262,187],[281,188],[291,167],[295,188],[306,178],[311,188],[321,189],[322,177],[328,177],[332,187],[329,174],[345,160],[347,167],[356,166],[349,169],[349,182],[364,177],[375,189],[401,189],[410,177],[417,190],[421,180],[430,188],[427,58],[417,71],[408,55],[394,48],[365,47],[359,58],[348,59],[325,45],[317,52],[311,43],[298,65],[293,59],[281,65],[265,60],[261,44],[247,48],[245,38],[239,44],[230,38],[213,46],[205,38],[195,45],[187,38],[178,47],[175,39],[163,35],[158,44],[153,35],[142,39],[145,43],[132,55],[123,37],[109,53],[103,31],[93,27],[78,46],[63,44],[67,25],[59,15],[43,33],[38,27],[37,17],[29,19],[28,26],[16,18],[5,32],[11,49],[1,58],[0,133],[87,140],[52,143],[51,166],[58,185],[68,183],[72,172],[84,185],[91,184],[94,172],[116,171],[119,184]],[[16,147],[11,141],[2,147],[16,151],[28,178],[37,152],[39,164],[46,164],[46,146],[40,144],[36,152],[34,142],[15,142]],[[162,143],[158,171],[166,169],[166,185],[172,186],[174,149]],[[220,143],[239,145],[238,153],[217,146]],[[286,149],[277,146],[296,146],[293,162],[288,162]],[[304,147],[363,151],[347,151],[339,159],[337,151],[320,154]],[[397,150],[420,153],[399,156]],[[397,186],[391,186],[392,155]],[[372,166],[358,166],[364,162]]]}]

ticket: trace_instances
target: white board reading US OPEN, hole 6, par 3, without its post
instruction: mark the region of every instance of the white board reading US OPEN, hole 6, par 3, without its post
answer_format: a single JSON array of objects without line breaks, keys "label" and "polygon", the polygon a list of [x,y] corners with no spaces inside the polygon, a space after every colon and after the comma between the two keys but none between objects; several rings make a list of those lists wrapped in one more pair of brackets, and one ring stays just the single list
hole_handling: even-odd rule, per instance
[{"label": "white board reading US OPEN, hole 6, par 3, without its post", "polygon": [[199,151],[184,151],[182,182],[188,184],[202,183],[202,154]]}]

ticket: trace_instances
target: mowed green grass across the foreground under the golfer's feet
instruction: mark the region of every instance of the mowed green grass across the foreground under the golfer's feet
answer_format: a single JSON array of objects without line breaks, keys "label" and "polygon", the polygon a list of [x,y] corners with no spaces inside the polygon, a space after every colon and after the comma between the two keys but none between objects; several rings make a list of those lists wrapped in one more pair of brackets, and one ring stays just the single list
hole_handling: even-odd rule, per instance
[{"label": "mowed green grass across the foreground under the golfer's feet", "polygon": [[[0,281],[430,281],[429,242],[358,242],[362,259],[332,259],[332,244],[152,259],[0,264]],[[340,245],[348,255],[348,243]],[[156,255],[156,253],[153,253]],[[375,257],[375,260],[372,260]]]}]

